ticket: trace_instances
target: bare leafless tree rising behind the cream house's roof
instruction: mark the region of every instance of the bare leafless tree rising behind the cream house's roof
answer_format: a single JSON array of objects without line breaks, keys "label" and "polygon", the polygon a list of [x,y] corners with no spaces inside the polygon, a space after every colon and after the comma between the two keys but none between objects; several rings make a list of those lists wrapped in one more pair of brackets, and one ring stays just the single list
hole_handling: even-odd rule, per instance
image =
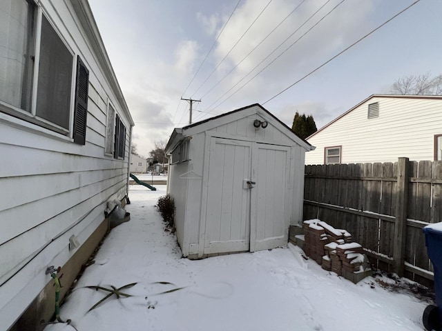
[{"label": "bare leafless tree rising behind the cream house's roof", "polygon": [[390,88],[392,94],[441,95],[442,74],[431,77],[430,72],[419,76],[404,76],[397,79]]}]

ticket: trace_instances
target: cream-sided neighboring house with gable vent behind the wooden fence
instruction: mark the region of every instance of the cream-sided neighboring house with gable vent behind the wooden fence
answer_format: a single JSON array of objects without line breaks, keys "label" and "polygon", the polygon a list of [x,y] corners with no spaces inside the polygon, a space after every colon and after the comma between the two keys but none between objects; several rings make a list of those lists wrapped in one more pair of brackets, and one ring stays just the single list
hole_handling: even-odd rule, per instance
[{"label": "cream-sided neighboring house with gable vent behind the wooden fence", "polygon": [[373,94],[307,138],[305,164],[442,159],[442,96]]}]

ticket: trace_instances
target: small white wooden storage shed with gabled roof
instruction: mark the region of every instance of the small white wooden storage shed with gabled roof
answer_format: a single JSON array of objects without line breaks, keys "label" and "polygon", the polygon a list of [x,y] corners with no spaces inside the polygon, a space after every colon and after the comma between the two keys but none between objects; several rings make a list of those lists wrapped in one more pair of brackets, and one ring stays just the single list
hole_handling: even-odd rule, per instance
[{"label": "small white wooden storage shed with gabled roof", "polygon": [[312,146],[259,104],[175,128],[166,154],[184,257],[287,245]]}]

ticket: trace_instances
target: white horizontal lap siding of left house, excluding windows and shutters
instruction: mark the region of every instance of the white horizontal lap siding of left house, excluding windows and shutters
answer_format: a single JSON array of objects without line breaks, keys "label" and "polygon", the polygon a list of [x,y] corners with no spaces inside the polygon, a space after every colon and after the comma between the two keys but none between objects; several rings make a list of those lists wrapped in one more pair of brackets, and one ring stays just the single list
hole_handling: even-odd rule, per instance
[{"label": "white horizontal lap siding of left house, excluding windows and shutters", "polygon": [[[12,325],[50,281],[46,268],[73,256],[69,238],[84,243],[97,229],[106,201],[122,199],[128,181],[133,120],[93,50],[96,41],[84,37],[90,31],[70,1],[39,3],[89,70],[86,144],[0,112],[1,328]],[[108,100],[126,127],[124,160],[104,155]]]}]

